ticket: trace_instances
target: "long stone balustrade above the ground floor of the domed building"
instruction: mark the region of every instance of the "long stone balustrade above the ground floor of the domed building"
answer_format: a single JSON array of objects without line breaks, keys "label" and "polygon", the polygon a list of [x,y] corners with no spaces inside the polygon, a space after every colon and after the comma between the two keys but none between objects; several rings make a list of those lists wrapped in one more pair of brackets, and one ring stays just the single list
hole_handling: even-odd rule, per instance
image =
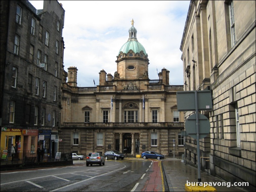
[{"label": "long stone balustrade above the ground floor of the domed building", "polygon": [[87,123],[87,122],[64,122],[62,127],[85,127],[85,128],[127,128],[127,127],[138,127],[138,128],[184,128],[183,122],[144,122],[144,123],[103,123],[103,122],[95,122],[95,123]]}]

